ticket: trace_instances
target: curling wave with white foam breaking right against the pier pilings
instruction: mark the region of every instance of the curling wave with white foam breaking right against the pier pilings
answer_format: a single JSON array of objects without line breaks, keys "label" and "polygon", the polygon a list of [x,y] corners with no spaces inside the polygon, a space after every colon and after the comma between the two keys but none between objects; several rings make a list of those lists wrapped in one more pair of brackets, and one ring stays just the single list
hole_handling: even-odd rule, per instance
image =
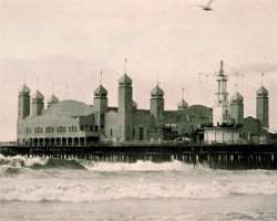
[{"label": "curling wave with white foam breaking right against the pier pilings", "polygon": [[[7,167],[8,166],[8,167]],[[193,166],[174,160],[170,162],[142,161],[126,162],[104,162],[90,161],[83,159],[49,159],[49,158],[24,158],[21,156],[3,157],[0,155],[0,168],[29,168],[29,169],[84,169],[90,171],[184,171],[193,169]],[[198,168],[205,169],[204,166]],[[206,168],[207,169],[207,168]],[[9,172],[9,171],[6,171]],[[1,173],[0,173],[1,175]]]}]

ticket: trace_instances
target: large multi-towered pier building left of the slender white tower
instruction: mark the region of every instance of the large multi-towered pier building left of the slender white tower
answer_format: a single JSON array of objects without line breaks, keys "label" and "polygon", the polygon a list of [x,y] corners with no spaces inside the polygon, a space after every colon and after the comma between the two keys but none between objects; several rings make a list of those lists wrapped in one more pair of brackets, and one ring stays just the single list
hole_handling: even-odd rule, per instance
[{"label": "large multi-towered pier building left of the slender white tower", "polygon": [[55,95],[48,99],[23,85],[18,95],[18,144],[22,146],[84,146],[94,141],[161,141],[186,136],[201,125],[212,124],[213,110],[203,105],[188,106],[182,99],[176,110],[164,108],[164,92],[155,85],[150,109],[133,101],[133,82],[123,74],[117,85],[117,107],[109,106],[107,91],[100,85],[93,104]]}]

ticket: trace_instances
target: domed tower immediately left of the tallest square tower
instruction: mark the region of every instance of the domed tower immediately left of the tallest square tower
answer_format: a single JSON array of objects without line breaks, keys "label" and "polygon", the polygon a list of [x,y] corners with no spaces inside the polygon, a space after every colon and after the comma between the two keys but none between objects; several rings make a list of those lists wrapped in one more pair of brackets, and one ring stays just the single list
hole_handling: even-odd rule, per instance
[{"label": "domed tower immediately left of the tallest square tower", "polygon": [[[100,84],[100,86],[94,91],[94,108],[95,108],[95,120],[96,128],[104,129],[105,125],[105,112],[107,107],[107,91]],[[98,130],[98,129],[96,129]]]}]

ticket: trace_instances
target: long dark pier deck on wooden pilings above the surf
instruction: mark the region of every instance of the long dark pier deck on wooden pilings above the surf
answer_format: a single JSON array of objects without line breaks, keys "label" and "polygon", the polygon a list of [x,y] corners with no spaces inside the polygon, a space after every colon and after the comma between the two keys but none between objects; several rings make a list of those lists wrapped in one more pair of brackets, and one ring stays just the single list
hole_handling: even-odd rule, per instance
[{"label": "long dark pier deck on wooden pilings above the surf", "polygon": [[179,160],[191,165],[205,165],[214,169],[277,169],[277,144],[246,145],[94,145],[49,147],[0,147],[3,156],[28,158],[80,158],[92,161],[154,162]]}]

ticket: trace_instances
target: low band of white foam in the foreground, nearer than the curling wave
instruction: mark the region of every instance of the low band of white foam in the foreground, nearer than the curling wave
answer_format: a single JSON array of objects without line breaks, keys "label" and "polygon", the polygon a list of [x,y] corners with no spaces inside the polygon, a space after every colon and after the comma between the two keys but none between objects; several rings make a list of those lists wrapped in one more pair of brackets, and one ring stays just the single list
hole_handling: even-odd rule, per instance
[{"label": "low band of white foam in the foreground, nearer than the curling wave", "polygon": [[[33,180],[35,181],[35,180]],[[116,199],[214,199],[236,194],[277,194],[277,182],[260,183],[29,183],[0,188],[0,201],[93,202]]]}]

